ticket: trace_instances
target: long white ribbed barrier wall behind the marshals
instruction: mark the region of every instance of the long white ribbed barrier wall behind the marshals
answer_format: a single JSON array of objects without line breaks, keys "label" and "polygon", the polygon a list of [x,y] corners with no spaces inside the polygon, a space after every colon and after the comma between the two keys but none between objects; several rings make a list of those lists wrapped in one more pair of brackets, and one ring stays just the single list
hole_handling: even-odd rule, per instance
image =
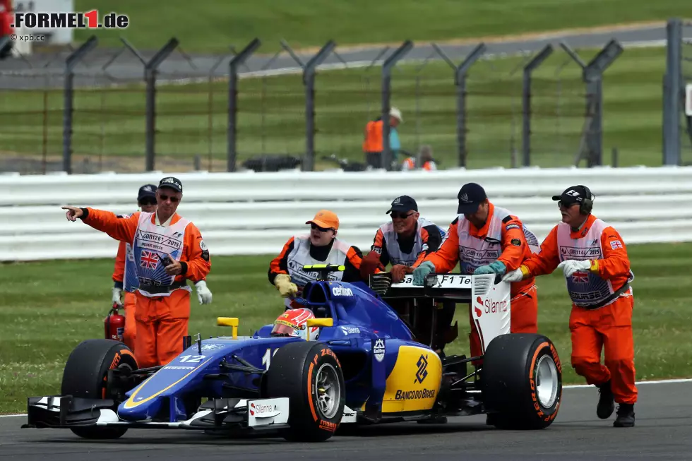
[{"label": "long white ribbed barrier wall behind the marshals", "polygon": [[[2,261],[113,257],[117,242],[61,205],[117,213],[136,210],[143,184],[167,174],[0,176]],[[443,228],[455,217],[466,182],[484,186],[539,239],[560,220],[551,196],[586,184],[594,214],[620,230],[626,243],[692,241],[692,167],[597,169],[474,169],[439,172],[181,173],[178,212],[200,229],[212,255],[275,254],[321,208],[336,212],[340,237],[368,251],[386,222],[391,200],[408,195],[421,215]]]}]

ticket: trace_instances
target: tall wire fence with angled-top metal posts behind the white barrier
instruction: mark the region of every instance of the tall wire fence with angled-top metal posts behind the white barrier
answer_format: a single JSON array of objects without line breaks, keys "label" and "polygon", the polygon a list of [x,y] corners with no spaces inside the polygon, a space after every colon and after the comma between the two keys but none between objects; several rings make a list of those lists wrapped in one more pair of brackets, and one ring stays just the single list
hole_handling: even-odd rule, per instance
[{"label": "tall wire fence with angled-top metal posts behind the white barrier", "polygon": [[566,45],[498,56],[329,42],[297,54],[284,42],[264,54],[255,40],[192,57],[175,39],[147,52],[122,43],[3,61],[0,171],[358,170],[366,124],[389,106],[403,114],[394,167],[424,146],[441,168],[608,163],[605,66],[587,76],[593,62]]}]

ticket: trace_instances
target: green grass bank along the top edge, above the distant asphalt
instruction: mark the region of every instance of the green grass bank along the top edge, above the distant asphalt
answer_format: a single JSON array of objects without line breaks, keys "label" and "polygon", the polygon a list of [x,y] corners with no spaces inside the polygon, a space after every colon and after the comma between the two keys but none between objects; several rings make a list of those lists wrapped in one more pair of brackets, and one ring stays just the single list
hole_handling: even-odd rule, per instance
[{"label": "green grass bank along the top edge, above the distant asphalt", "polygon": [[[611,23],[692,16],[686,0],[172,0],[162,7],[140,0],[76,0],[76,11],[126,14],[126,30],[98,30],[106,46],[121,46],[124,35],[141,48],[161,47],[176,36],[185,51],[227,52],[255,37],[263,51],[279,49],[283,38],[294,47],[338,44],[447,40],[508,35],[538,30],[583,28]],[[76,30],[85,40],[93,30]]]}]

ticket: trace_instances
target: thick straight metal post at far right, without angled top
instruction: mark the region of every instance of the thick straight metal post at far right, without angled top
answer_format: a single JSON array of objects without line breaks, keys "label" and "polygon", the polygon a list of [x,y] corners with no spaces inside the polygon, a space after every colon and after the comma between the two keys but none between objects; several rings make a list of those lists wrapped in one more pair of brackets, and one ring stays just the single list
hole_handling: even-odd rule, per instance
[{"label": "thick straight metal post at far right, without angled top", "polygon": [[663,83],[663,164],[681,164],[680,91],[682,90],[682,20],[666,25],[666,73]]}]

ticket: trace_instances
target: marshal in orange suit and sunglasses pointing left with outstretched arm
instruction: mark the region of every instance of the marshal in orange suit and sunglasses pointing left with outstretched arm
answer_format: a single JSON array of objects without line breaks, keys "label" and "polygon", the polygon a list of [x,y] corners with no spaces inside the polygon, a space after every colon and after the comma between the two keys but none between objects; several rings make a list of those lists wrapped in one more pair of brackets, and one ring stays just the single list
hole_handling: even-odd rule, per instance
[{"label": "marshal in orange suit and sunglasses pointing left with outstretched arm", "polygon": [[190,318],[191,288],[208,292],[204,278],[211,270],[209,251],[199,229],[176,210],[183,187],[172,176],[160,181],[157,210],[115,215],[94,208],[64,206],[67,219],[85,224],[110,237],[131,243],[137,265],[135,313],[136,358],[141,367],[165,365],[182,352]]}]

